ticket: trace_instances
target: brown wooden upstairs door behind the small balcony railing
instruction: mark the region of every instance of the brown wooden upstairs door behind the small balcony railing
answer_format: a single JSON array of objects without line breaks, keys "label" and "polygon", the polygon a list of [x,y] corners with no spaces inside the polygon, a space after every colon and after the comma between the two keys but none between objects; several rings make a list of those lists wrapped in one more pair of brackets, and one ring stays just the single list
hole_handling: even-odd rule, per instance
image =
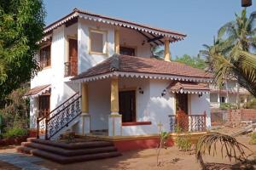
[{"label": "brown wooden upstairs door behind the small balcony railing", "polygon": [[69,39],[70,76],[78,75],[78,40]]}]

